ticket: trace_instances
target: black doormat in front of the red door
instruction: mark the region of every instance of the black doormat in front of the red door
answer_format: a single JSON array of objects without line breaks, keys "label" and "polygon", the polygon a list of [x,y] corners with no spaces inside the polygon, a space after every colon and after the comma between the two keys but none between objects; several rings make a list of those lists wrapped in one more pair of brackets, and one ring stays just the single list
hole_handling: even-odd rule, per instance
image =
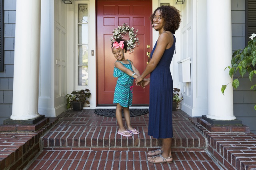
[{"label": "black doormat in front of the red door", "polygon": [[[141,116],[148,113],[148,109],[129,109],[129,111],[130,117]],[[95,109],[94,113],[106,117],[116,117],[116,109]],[[124,117],[124,113],[122,113],[122,116]]]}]

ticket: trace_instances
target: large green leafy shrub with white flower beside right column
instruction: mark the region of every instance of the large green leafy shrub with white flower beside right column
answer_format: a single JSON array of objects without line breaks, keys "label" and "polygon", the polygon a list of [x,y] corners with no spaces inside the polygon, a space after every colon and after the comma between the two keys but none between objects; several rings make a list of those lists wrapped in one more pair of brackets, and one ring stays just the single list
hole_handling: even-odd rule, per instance
[{"label": "large green leafy shrub with white flower beside right column", "polygon": [[[240,85],[238,79],[240,77],[243,77],[245,73],[249,73],[249,79],[251,82],[252,77],[256,74],[256,34],[252,34],[252,36],[250,36],[250,39],[251,40],[248,42],[248,45],[244,47],[244,49],[238,49],[237,51],[234,51],[231,59],[232,66],[226,67],[229,68],[229,75],[231,78],[236,73],[240,75],[237,79],[234,79],[232,81],[232,86],[234,87],[234,89],[238,88],[238,86]],[[227,85],[222,85],[221,92],[223,95],[226,87]],[[256,85],[252,85],[250,89],[252,90],[254,89],[254,87],[256,87]],[[256,88],[254,89],[254,92],[255,91]],[[256,110],[256,105],[254,106],[254,109]]]}]

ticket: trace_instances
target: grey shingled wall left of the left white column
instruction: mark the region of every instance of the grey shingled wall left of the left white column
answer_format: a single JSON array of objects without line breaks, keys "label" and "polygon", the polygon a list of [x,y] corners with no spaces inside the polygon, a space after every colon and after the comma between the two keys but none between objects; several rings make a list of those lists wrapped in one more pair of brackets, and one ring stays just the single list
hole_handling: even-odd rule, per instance
[{"label": "grey shingled wall left of the left white column", "polygon": [[4,71],[0,72],[0,124],[12,115],[16,0],[4,0]]}]

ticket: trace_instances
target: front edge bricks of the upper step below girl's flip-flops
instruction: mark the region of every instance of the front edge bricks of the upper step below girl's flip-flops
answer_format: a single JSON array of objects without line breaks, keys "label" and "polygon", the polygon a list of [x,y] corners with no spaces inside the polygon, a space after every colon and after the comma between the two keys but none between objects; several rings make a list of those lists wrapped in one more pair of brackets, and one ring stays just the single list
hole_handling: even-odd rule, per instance
[{"label": "front edge bricks of the upper step below girl's flip-flops", "polygon": [[[162,139],[147,135],[146,127],[134,127],[139,135],[124,137],[116,133],[117,127],[58,126],[42,137],[43,147],[158,147]],[[177,129],[178,127],[174,127]],[[179,127],[184,128],[184,127]],[[144,130],[144,131],[143,131]],[[185,128],[183,129],[185,130]],[[174,132],[173,148],[205,148],[206,139],[200,132]]]}]

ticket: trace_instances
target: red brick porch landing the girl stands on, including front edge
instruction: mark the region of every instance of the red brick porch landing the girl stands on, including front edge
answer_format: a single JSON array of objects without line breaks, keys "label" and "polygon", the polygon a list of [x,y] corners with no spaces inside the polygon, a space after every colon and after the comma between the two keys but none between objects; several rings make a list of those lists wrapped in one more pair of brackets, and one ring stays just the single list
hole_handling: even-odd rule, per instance
[{"label": "red brick porch landing the girl stands on, including front edge", "polygon": [[[186,113],[177,110],[172,113],[172,147],[205,148],[206,139],[188,120]],[[132,126],[140,134],[124,137],[117,134],[115,117],[102,117],[94,109],[65,111],[61,120],[45,136],[43,147],[158,147],[161,139],[148,136],[148,114],[131,117]],[[124,119],[123,119],[124,121]],[[125,121],[124,121],[125,125]]]}]

